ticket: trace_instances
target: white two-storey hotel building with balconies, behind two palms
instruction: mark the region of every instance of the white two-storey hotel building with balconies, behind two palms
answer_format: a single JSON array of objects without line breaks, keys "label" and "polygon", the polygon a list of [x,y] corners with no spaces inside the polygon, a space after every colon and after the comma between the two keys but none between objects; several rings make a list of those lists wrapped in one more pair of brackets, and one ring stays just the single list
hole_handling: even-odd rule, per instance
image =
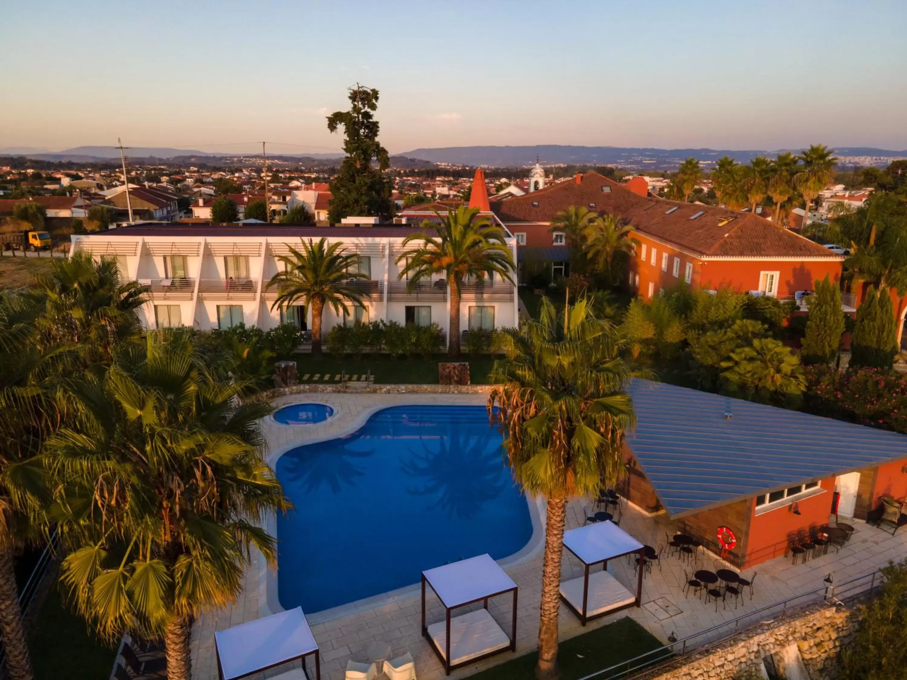
[{"label": "white two-storey hotel building with balconies, behind two palms", "polygon": [[[495,220],[496,221],[496,220]],[[500,223],[499,223],[500,224]],[[347,253],[359,256],[359,271],[368,280],[356,279],[363,291],[363,306],[350,315],[336,316],[325,308],[322,332],[356,319],[385,320],[418,325],[436,323],[446,335],[450,294],[443,277],[420,282],[410,290],[399,277],[396,257],[403,240],[421,228],[407,225],[290,227],[278,225],[210,226],[137,224],[109,231],[73,235],[71,254],[114,258],[129,280],[147,289],[141,307],[142,323],[149,329],[193,325],[201,330],[227,328],[243,323],[267,330],[281,322],[311,328],[305,306],[271,309],[276,287],[268,280],[284,264],[278,256],[289,248],[301,249],[300,239],[313,242],[327,237],[340,241]],[[516,261],[516,239],[509,231],[507,244]],[[460,305],[460,328],[492,329],[518,324],[516,287],[495,277],[491,281],[465,282]]]}]

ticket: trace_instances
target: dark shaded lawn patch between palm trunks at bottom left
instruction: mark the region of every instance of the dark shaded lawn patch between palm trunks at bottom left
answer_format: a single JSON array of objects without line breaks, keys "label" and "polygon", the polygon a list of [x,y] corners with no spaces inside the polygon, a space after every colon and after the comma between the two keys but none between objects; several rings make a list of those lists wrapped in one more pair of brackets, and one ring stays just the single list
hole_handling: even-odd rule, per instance
[{"label": "dark shaded lawn patch between palm trunks at bottom left", "polygon": [[98,680],[110,676],[115,646],[89,633],[82,618],[63,607],[51,588],[28,634],[35,680]]}]

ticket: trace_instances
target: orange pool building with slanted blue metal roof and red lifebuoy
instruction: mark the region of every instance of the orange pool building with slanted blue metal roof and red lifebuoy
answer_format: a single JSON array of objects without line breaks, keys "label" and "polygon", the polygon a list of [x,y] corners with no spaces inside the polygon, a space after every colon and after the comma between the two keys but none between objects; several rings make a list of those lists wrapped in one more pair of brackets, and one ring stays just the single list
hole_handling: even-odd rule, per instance
[{"label": "orange pool building with slanted blue metal roof and red lifebuoy", "polygon": [[810,544],[830,514],[865,520],[907,497],[903,434],[644,380],[631,394],[618,491],[737,567]]}]

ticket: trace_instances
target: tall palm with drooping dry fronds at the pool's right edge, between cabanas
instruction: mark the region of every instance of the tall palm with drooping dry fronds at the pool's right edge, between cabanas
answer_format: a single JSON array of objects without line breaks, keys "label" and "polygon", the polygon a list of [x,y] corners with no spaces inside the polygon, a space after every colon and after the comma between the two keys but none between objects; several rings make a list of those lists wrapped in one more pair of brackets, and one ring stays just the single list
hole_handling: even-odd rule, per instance
[{"label": "tall palm with drooping dry fronds at the pool's right edge, between cabanas", "polygon": [[612,484],[623,432],[633,423],[630,370],[613,325],[585,299],[562,313],[542,298],[538,320],[505,333],[488,410],[504,435],[514,479],[548,501],[541,577],[539,678],[558,675],[558,608],[567,503]]}]

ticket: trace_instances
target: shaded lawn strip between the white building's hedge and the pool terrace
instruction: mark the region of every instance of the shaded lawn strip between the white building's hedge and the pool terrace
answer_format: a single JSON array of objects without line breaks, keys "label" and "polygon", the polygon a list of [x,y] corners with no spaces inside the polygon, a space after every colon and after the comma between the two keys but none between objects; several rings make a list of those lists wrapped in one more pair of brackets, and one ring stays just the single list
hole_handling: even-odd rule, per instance
[{"label": "shaded lawn strip between the white building's hedge and the pool terrace", "polygon": [[[363,355],[359,359],[352,356],[336,357],[322,355],[296,355],[297,375],[300,383],[311,383],[314,375],[319,375],[319,383],[336,383],[336,375],[346,371],[347,378],[366,375],[371,371],[375,384],[438,384],[438,364],[449,361],[447,355],[434,355],[431,359],[413,357],[408,359],[392,358],[388,355]],[[463,355],[460,361],[469,362],[470,382],[488,384],[488,374],[494,364],[493,355],[472,357]],[[304,380],[308,374],[308,380]],[[325,375],[330,380],[325,381]],[[361,378],[360,378],[361,379]]]}]

